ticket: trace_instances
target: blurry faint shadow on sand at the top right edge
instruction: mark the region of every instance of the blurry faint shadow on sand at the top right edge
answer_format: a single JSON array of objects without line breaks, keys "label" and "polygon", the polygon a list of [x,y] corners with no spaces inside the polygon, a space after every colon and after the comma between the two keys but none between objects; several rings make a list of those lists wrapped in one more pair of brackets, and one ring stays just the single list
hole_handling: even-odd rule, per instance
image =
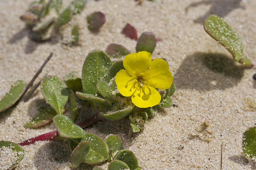
[{"label": "blurry faint shadow on sand at the top right edge", "polygon": [[195,23],[202,24],[210,14],[223,18],[236,8],[244,9],[244,7],[240,5],[241,1],[242,0],[203,0],[200,2],[191,3],[188,7],[186,7],[185,11],[187,12],[189,8],[200,5],[211,5],[211,8],[204,15],[194,20]]}]

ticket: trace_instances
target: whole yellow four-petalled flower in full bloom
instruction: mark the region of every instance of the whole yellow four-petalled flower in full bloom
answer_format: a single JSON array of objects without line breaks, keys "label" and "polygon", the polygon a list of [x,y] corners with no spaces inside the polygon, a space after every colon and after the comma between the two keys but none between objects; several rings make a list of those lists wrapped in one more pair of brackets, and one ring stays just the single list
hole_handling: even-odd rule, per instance
[{"label": "whole yellow four-petalled flower in full bloom", "polygon": [[125,70],[116,74],[117,89],[123,96],[132,96],[132,102],[141,108],[157,105],[161,95],[156,90],[172,85],[172,74],[163,59],[152,61],[146,51],[129,54],[124,58]]}]

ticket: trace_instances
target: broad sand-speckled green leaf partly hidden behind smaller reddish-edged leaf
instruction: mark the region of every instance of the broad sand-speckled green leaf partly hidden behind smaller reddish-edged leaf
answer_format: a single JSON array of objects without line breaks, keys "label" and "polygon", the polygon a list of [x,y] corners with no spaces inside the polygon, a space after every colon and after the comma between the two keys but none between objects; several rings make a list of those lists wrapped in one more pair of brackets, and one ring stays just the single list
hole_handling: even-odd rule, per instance
[{"label": "broad sand-speckled green leaf partly hidden behind smaller reddish-edged leaf", "polygon": [[82,141],[88,141],[91,144],[84,162],[96,164],[107,160],[109,153],[108,146],[101,138],[94,134],[85,134]]}]

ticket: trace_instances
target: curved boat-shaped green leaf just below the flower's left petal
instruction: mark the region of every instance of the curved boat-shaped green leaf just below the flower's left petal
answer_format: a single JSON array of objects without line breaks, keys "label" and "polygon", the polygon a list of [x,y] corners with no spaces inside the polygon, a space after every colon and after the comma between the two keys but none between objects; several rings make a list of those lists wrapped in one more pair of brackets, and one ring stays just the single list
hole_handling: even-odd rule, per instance
[{"label": "curved boat-shaped green leaf just below the flower's left petal", "polygon": [[135,108],[136,106],[132,103],[122,110],[110,110],[106,113],[100,112],[99,115],[109,120],[119,120],[131,114]]}]

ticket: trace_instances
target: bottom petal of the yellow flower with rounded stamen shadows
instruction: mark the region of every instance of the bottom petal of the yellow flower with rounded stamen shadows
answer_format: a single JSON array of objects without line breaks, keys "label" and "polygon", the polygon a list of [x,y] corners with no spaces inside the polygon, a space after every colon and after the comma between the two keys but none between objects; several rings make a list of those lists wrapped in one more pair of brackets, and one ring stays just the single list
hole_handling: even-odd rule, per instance
[{"label": "bottom petal of the yellow flower with rounded stamen shadows", "polygon": [[143,87],[139,85],[138,87],[139,90],[136,89],[132,94],[132,102],[137,107],[153,107],[160,102],[161,95],[155,88],[149,85],[143,85]]}]

